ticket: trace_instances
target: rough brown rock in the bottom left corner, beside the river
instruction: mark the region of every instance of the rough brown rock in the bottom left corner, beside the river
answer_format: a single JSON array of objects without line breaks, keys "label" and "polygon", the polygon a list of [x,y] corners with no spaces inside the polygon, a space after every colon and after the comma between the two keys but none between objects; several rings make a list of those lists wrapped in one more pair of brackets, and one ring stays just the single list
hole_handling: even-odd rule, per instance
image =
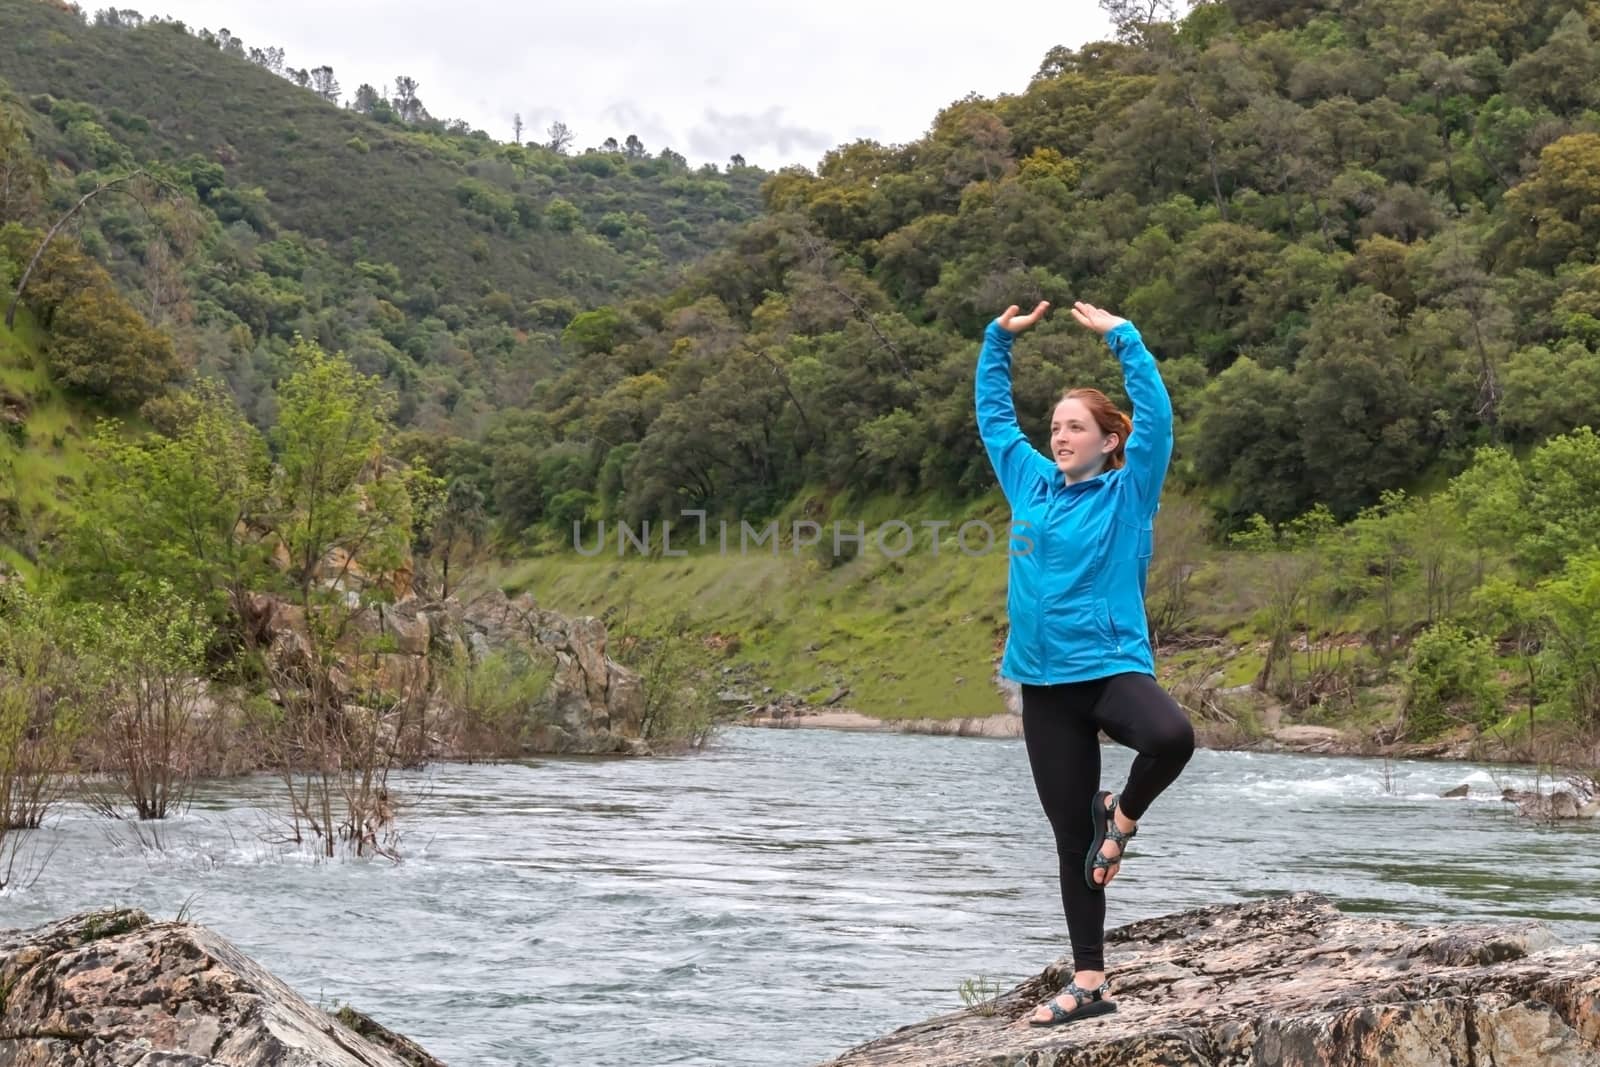
[{"label": "rough brown rock in the bottom left corner, beside the river", "polygon": [[443,1067],[210,929],[138,910],[0,931],[0,990],[5,1067]]}]

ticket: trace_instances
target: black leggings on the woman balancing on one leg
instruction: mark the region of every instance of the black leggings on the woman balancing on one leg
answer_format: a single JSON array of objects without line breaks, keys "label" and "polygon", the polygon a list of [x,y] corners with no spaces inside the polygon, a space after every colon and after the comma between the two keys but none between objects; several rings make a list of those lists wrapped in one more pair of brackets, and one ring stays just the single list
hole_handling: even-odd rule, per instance
[{"label": "black leggings on the woman balancing on one leg", "polygon": [[1144,816],[1195,750],[1189,717],[1150,675],[1022,686],[1027,761],[1056,832],[1061,905],[1067,912],[1072,961],[1080,971],[1106,969],[1106,894],[1083,881],[1085,854],[1094,840],[1090,808],[1099,790],[1102,729],[1139,753],[1117,801],[1130,819]]}]

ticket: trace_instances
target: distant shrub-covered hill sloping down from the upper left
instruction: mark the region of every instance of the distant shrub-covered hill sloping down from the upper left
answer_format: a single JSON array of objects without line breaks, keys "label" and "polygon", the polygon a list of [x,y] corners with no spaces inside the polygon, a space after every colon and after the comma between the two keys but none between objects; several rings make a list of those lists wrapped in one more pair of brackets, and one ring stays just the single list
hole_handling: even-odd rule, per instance
[{"label": "distant shrub-covered hill sloping down from the upper left", "polygon": [[574,315],[667,290],[760,210],[766,173],[742,162],[690,168],[626,130],[587,131],[589,152],[570,131],[509,144],[430,117],[403,74],[392,96],[341,93],[270,45],[0,0],[5,152],[46,165],[43,189],[6,186],[0,224],[43,230],[154,168],[160,205],[107,195],[67,235],[125,293],[157,293],[134,302],[261,422],[301,333],[381,374],[400,422],[480,435],[558,363]]}]

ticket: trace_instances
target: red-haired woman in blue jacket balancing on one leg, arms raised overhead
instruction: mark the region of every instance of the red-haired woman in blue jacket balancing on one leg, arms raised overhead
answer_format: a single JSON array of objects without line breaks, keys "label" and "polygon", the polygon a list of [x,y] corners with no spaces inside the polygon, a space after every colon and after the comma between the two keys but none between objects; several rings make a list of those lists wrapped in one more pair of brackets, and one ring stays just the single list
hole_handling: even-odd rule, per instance
[{"label": "red-haired woman in blue jacket balancing on one leg, arms raised overhead", "polygon": [[[1018,537],[1011,547],[1002,673],[1022,686],[1022,734],[1056,837],[1072,981],[1029,1017],[1059,1025],[1114,1011],[1106,1000],[1106,896],[1150,801],[1194,753],[1187,715],[1155,683],[1144,617],[1150,530],[1173,454],[1173,405],[1133,323],[1091,304],[1072,317],[1106,338],[1138,424],[1094,389],[1074,389],[1050,421],[1050,456],[1022,435],[1011,403],[1008,307],[978,357],[978,430]],[[1022,544],[1019,549],[1018,544]],[[1099,734],[1138,755],[1122,793],[1099,789]]]}]

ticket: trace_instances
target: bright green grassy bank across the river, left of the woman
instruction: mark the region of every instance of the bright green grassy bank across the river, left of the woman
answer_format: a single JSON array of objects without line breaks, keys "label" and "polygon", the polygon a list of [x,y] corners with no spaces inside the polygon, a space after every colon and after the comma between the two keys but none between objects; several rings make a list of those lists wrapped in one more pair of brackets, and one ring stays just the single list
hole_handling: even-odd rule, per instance
[{"label": "bright green grassy bank across the river, left of the woman", "polygon": [[[810,701],[848,688],[843,705],[885,718],[1002,710],[990,678],[1005,616],[1005,555],[997,549],[968,557],[954,542],[962,522],[992,506],[957,512],[931,498],[874,501],[862,510],[834,506],[840,530],[854,530],[859,518],[869,534],[861,555],[838,566],[789,544],[778,555],[754,547],[739,552],[736,536],[723,555],[715,533],[706,550],[688,558],[643,558],[629,549],[619,560],[608,530],[608,558],[547,555],[498,581],[562,611],[598,614],[613,629],[653,632],[682,616],[699,633],[736,637],[725,665],[744,667],[765,685]],[[942,531],[934,557],[931,531],[920,523],[946,517],[952,526]],[[874,544],[872,533],[888,518],[917,531],[915,547],[901,558]],[[829,537],[832,520],[819,522]]]}]

